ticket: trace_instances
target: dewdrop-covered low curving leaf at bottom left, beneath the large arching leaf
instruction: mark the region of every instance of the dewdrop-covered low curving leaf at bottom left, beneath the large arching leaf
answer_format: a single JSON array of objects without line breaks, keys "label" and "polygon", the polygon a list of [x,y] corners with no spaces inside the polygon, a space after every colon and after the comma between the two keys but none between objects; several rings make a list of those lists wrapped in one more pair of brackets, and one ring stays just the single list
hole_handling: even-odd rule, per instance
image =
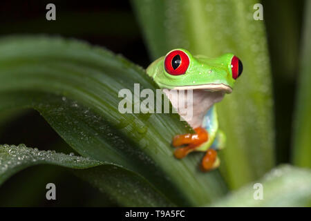
[{"label": "dewdrop-covered low curving leaf at bottom left, beneath the large arching leaf", "polygon": [[[0,145],[0,185],[11,175],[40,164],[71,169],[123,206],[172,206],[149,182],[116,164],[55,151],[39,151],[24,144]],[[60,187],[60,186],[59,186]]]}]

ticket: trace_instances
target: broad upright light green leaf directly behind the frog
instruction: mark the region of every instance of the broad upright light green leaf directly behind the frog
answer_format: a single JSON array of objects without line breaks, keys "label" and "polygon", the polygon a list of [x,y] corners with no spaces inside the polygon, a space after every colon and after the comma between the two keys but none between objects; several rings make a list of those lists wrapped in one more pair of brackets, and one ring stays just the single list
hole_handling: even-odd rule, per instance
[{"label": "broad upright light green leaf directly behind the frog", "polygon": [[232,52],[243,75],[218,105],[227,148],[220,167],[231,188],[256,180],[274,166],[270,64],[263,21],[253,19],[258,1],[133,1],[151,57],[173,48],[209,57]]}]

